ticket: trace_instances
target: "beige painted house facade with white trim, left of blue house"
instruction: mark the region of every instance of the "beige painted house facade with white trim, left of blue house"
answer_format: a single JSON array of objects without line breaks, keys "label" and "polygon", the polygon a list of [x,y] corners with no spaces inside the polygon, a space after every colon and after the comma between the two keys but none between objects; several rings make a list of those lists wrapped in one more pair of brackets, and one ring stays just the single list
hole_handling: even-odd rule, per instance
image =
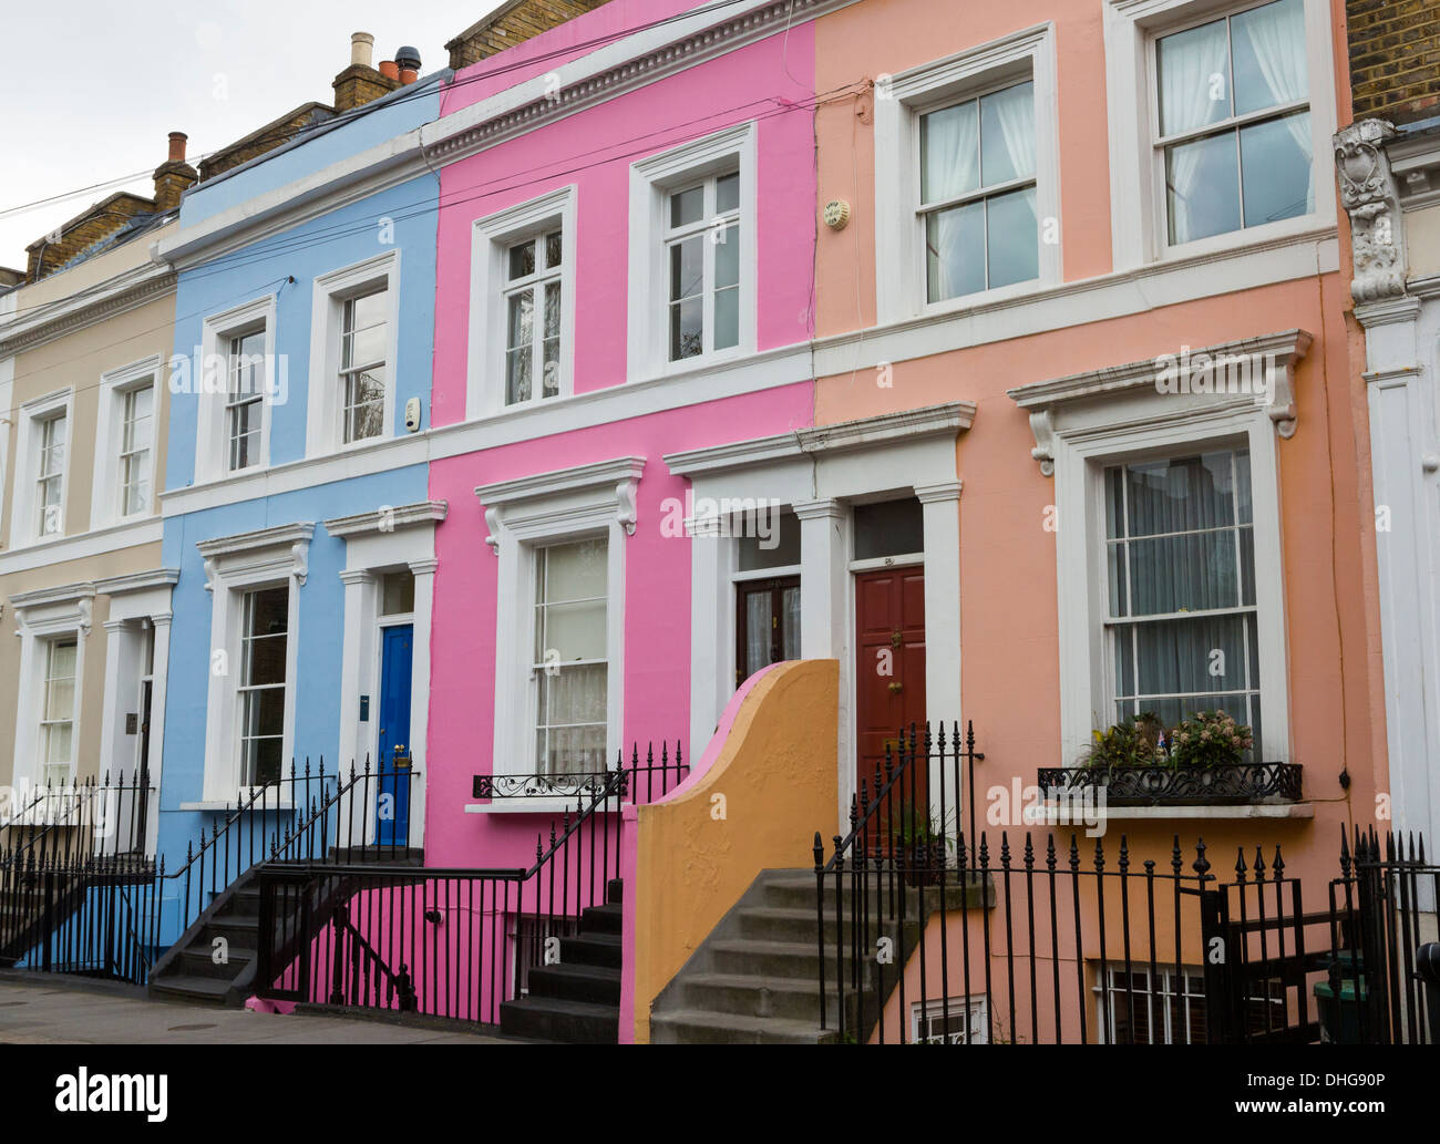
[{"label": "beige painted house facade with white trim, left of blue house", "polygon": [[[174,273],[153,216],[0,296],[0,784],[158,789]],[[150,712],[154,712],[151,717]],[[30,796],[33,797],[33,796]],[[153,827],[151,827],[153,829]]]}]

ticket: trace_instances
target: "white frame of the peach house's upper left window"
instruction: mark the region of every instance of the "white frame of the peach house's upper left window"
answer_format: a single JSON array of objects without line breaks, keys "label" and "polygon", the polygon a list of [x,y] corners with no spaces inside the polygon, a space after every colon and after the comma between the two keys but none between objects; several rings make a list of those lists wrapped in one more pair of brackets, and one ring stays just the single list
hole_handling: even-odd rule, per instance
[{"label": "white frame of the peach house's upper left window", "polygon": [[[1030,79],[1035,86],[1035,243],[1028,282],[930,302],[920,217],[920,115]],[[1044,242],[1047,220],[1056,242]],[[1063,276],[1056,30],[1045,23],[876,83],[876,308],[881,325],[1032,294]]]}]

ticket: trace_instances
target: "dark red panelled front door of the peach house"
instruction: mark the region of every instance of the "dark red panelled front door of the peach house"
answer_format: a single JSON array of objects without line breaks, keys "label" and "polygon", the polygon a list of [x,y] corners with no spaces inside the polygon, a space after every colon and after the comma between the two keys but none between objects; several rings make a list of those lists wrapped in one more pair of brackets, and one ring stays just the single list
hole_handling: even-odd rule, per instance
[{"label": "dark red panelled front door of the peach house", "polygon": [[[886,743],[924,727],[924,568],[855,576],[855,735],[858,777],[874,786]],[[858,790],[858,784],[857,784]]]}]

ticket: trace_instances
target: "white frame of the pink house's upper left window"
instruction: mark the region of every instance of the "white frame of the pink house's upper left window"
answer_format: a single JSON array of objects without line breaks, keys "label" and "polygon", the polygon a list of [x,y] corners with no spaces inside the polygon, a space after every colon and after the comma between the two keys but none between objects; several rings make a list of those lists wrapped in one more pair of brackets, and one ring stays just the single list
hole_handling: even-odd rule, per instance
[{"label": "white frame of the pink house's upper left window", "polygon": [[[505,207],[471,229],[469,265],[469,344],[465,374],[465,416],[488,417],[517,413],[575,393],[575,268],[577,190],[560,187]],[[553,397],[540,397],[539,376],[531,383],[531,399],[505,404],[505,255],[511,246],[552,230],[560,230],[560,389]]]}]

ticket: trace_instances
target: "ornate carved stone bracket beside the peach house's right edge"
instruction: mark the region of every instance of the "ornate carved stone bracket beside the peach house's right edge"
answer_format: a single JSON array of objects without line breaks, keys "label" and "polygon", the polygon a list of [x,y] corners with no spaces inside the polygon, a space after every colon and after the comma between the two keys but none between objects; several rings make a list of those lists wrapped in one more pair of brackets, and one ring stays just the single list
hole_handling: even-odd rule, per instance
[{"label": "ornate carved stone bracket beside the peach house's right edge", "polygon": [[1395,137],[1384,119],[1361,119],[1335,132],[1335,170],[1341,203],[1351,217],[1351,252],[1356,302],[1405,294],[1404,222],[1400,186],[1390,168],[1385,142]]}]

